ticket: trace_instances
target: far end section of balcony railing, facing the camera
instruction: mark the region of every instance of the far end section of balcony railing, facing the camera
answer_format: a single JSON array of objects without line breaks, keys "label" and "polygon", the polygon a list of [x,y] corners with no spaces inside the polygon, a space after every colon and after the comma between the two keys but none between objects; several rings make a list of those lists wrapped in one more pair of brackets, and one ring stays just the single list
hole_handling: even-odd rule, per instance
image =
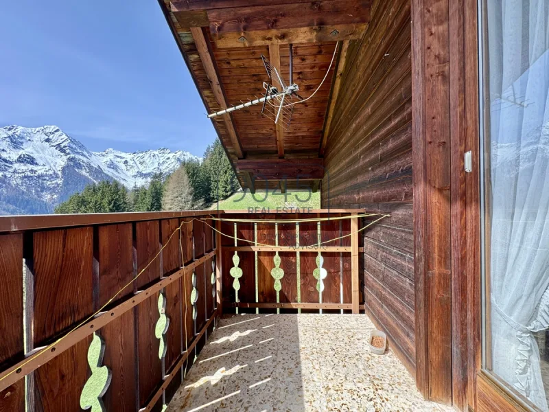
[{"label": "far end section of balcony railing, facing the camera", "polygon": [[[230,218],[250,219],[286,219],[296,218],[327,218],[341,216],[339,213],[318,213],[318,214],[231,214]],[[347,214],[348,216],[349,214]],[[222,236],[222,282],[223,282],[223,307],[225,312],[235,312],[233,304],[236,301],[236,293],[233,288],[233,277],[231,277],[231,268],[233,264],[234,247],[250,247],[258,244],[267,244],[274,246],[277,244],[276,233],[278,231],[278,245],[280,247],[296,247],[297,226],[295,222],[278,223],[278,229],[274,222],[222,222],[220,225],[224,236]],[[235,245],[235,227],[236,236],[239,238]],[[340,236],[349,235],[351,231],[351,220],[324,220],[320,222],[320,242],[325,242]],[[299,246],[316,246],[318,244],[318,227],[316,222],[299,223]],[[347,304],[349,306],[344,312],[351,312],[351,237],[334,240],[323,244],[327,247],[349,247],[349,252],[322,251],[323,268],[327,271],[327,277],[323,280],[325,289],[322,293],[323,304]],[[233,249],[231,249],[233,248]],[[244,251],[237,250],[240,258],[238,267],[242,269],[242,277],[239,278],[240,290],[238,290],[238,301],[252,304],[249,308],[239,308],[240,313],[253,312],[276,312],[273,307],[257,308],[254,304],[276,304],[277,293],[274,289],[274,278],[271,275],[274,268],[274,251]],[[318,304],[320,301],[318,290],[316,289],[317,279],[313,272],[316,269],[317,251],[305,250],[296,251],[288,249],[279,251],[281,258],[280,268],[284,275],[281,279],[282,288],[279,293],[279,302],[281,304]],[[257,267],[256,267],[257,260]],[[299,278],[298,278],[299,276]],[[299,285],[299,287],[298,287]],[[364,301],[359,297],[360,304]],[[341,308],[323,310],[323,312],[339,313]],[[318,309],[301,309],[302,312],[316,312]],[[281,308],[281,313],[296,313],[295,308]]]}]

